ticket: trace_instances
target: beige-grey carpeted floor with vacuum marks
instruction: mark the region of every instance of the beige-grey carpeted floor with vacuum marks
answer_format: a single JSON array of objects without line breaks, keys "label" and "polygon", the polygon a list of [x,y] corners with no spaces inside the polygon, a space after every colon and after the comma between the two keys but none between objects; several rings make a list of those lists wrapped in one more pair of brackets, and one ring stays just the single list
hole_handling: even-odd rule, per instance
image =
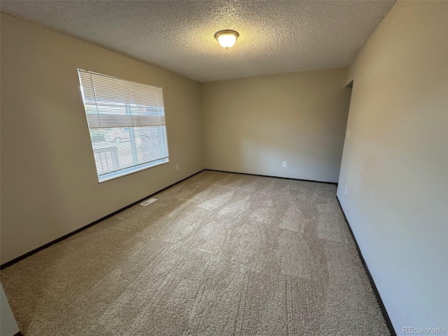
[{"label": "beige-grey carpeted floor with vacuum marks", "polygon": [[205,171],[1,283],[24,335],[390,335],[335,193]]}]

